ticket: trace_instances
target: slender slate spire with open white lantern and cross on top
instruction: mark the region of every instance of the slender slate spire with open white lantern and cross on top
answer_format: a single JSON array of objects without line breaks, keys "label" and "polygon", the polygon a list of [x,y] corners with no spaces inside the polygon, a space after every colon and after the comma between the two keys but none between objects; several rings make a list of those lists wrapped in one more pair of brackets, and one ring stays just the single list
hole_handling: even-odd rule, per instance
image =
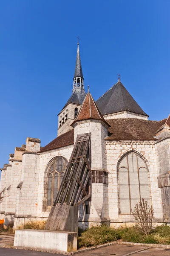
[{"label": "slender slate spire with open white lantern and cross on top", "polygon": [[74,79],[73,79],[73,89],[75,88],[82,88],[84,89],[84,78],[82,74],[82,64],[80,60],[79,54],[79,43],[77,44],[77,58],[76,58],[76,67],[74,72]]}]

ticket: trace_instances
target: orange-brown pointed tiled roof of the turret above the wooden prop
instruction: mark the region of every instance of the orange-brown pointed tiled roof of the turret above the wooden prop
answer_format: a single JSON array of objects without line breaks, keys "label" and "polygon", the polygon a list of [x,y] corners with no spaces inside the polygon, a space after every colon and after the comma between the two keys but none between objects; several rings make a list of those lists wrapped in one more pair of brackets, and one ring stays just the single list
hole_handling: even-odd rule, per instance
[{"label": "orange-brown pointed tiled roof of the turret above the wooden prop", "polygon": [[102,116],[102,113],[99,111],[99,108],[97,107],[93,97],[91,96],[91,93],[89,92],[86,94],[82,106],[79,110],[79,113],[77,114],[77,117],[74,120],[73,124],[76,121],[88,119],[102,120],[110,127],[110,125],[105,121],[104,117]]}]

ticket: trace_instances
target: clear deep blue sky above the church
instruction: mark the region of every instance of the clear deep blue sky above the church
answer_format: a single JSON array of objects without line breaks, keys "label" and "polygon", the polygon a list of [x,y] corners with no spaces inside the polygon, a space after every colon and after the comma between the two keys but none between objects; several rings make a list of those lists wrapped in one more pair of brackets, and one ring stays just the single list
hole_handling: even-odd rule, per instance
[{"label": "clear deep blue sky above the church", "polygon": [[85,88],[121,81],[150,119],[170,113],[169,0],[0,1],[0,168],[26,137],[57,136],[80,36]]}]

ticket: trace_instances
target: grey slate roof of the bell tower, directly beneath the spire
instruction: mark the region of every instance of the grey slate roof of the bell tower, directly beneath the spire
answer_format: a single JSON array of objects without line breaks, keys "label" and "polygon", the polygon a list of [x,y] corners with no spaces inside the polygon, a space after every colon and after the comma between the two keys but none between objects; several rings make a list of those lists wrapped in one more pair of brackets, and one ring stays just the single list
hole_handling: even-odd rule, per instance
[{"label": "grey slate roof of the bell tower, directly beneath the spire", "polygon": [[[68,103],[78,104],[82,105],[83,100],[85,99],[86,92],[82,88],[76,88],[73,90],[73,93],[71,94],[70,98],[64,105],[64,108],[68,105]],[[62,108],[62,109],[64,109]],[[61,111],[60,111],[61,112]]]}]

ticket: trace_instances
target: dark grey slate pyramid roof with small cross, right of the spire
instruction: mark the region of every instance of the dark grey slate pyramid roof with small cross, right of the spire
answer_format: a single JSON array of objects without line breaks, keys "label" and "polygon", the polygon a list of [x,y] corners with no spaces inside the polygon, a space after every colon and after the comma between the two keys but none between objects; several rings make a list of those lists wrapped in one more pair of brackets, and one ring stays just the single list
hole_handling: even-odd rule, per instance
[{"label": "dark grey slate pyramid roof with small cross, right of the spire", "polygon": [[148,116],[128,93],[123,84],[118,81],[111,89],[104,93],[97,101],[102,115],[116,113],[120,111],[130,111],[133,113]]}]

